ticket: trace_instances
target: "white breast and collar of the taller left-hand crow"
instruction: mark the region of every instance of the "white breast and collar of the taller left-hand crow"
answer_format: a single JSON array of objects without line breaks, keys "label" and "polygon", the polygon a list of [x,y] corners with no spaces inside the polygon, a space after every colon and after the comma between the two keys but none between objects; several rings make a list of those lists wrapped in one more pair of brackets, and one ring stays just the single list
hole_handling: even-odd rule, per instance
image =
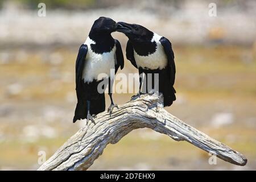
[{"label": "white breast and collar of the taller left-hand crow", "polygon": [[115,68],[115,46],[110,52],[105,52],[101,55],[92,51],[90,44],[95,44],[95,42],[89,37],[84,44],[88,46],[84,70],[82,72],[84,82],[91,82],[94,79],[101,80],[104,77],[110,77],[110,69]]}]

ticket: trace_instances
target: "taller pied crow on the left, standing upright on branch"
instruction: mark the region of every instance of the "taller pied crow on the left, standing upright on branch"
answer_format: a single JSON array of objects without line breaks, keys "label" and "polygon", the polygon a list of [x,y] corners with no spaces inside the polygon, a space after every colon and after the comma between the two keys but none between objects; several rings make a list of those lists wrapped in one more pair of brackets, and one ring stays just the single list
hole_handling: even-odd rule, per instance
[{"label": "taller pied crow on the left, standing upright on branch", "polygon": [[[110,114],[114,107],[112,99],[113,80],[110,70],[115,73],[123,69],[123,53],[118,40],[111,36],[116,23],[111,18],[100,17],[94,23],[85,43],[79,48],[76,59],[76,94],[77,105],[73,122],[77,119],[87,119],[94,122],[96,114],[105,110],[105,94],[98,92],[98,85],[104,80],[109,82],[111,104]],[[105,73],[105,77],[99,77]],[[105,88],[106,89],[106,88]]]}]

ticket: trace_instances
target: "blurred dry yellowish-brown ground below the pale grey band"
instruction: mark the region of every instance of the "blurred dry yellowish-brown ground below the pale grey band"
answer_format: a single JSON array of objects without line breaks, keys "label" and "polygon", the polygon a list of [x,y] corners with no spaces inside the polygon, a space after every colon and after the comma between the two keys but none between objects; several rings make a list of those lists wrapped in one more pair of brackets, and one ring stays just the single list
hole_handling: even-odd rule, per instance
[{"label": "blurred dry yellowish-brown ground below the pale grey band", "polygon": [[[124,44],[124,43],[123,43]],[[136,130],[106,147],[90,169],[256,169],[255,48],[174,47],[177,101],[167,110],[244,154],[245,167],[217,160],[185,142]],[[0,169],[36,169],[85,121],[72,123],[77,50],[1,51]],[[129,61],[123,73],[136,72]],[[131,94],[114,94],[117,104]],[[106,96],[106,105],[109,97]]]}]

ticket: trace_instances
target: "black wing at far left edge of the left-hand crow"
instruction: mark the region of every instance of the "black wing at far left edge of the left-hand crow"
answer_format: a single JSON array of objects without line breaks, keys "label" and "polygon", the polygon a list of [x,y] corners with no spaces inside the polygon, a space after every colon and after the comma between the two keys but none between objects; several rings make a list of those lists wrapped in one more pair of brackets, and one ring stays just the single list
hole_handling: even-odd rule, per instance
[{"label": "black wing at far left edge of the left-hand crow", "polygon": [[79,48],[79,53],[76,59],[76,96],[77,100],[80,100],[82,94],[82,71],[84,69],[85,57],[88,51],[88,47],[82,44]]}]

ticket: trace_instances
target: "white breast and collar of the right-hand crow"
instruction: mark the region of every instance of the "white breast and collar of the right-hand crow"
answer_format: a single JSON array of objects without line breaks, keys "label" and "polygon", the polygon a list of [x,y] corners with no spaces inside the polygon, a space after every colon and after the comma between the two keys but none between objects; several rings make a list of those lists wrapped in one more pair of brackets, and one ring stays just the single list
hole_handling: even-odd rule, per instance
[{"label": "white breast and collar of the right-hand crow", "polygon": [[134,50],[134,59],[138,67],[143,69],[163,69],[166,67],[168,60],[164,48],[159,41],[161,38],[162,36],[154,33],[151,42],[156,42],[156,51],[148,56],[140,56]]}]

